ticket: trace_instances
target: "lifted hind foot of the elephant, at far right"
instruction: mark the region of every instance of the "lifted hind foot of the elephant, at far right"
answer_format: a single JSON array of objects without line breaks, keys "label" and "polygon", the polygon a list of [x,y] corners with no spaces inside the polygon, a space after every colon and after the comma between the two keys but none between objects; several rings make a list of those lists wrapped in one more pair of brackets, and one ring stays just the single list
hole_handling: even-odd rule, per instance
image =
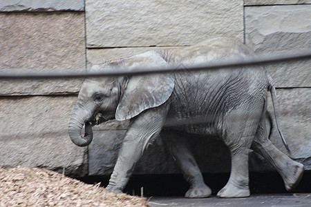
[{"label": "lifted hind foot of the elephant, at far right", "polygon": [[303,164],[299,162],[293,161],[293,166],[290,166],[288,170],[290,172],[283,172],[283,180],[285,184],[286,190],[292,190],[292,188],[296,187],[299,184],[299,181],[303,177]]}]

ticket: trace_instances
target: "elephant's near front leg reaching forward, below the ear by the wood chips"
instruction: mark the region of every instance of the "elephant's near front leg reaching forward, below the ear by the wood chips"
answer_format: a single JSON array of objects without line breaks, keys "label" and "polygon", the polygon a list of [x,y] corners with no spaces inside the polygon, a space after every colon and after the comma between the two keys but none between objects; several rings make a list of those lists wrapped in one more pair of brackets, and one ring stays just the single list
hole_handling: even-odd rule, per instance
[{"label": "elephant's near front leg reaching forward, below the ear by the wood chips", "polygon": [[107,186],[108,190],[122,193],[144,149],[160,134],[167,110],[168,106],[164,104],[158,108],[146,110],[131,120]]}]

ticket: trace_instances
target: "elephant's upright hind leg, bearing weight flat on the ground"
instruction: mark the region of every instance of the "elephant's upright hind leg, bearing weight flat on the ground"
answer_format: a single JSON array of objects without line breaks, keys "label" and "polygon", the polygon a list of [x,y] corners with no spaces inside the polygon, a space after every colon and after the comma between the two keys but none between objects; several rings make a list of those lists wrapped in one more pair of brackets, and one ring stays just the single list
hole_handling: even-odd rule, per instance
[{"label": "elephant's upright hind leg, bearing weight flat on the ground", "polygon": [[229,181],[218,192],[218,197],[248,197],[250,195],[248,153],[258,122],[256,118],[243,116],[243,112],[237,111],[227,115],[222,138],[231,152],[232,167]]}]

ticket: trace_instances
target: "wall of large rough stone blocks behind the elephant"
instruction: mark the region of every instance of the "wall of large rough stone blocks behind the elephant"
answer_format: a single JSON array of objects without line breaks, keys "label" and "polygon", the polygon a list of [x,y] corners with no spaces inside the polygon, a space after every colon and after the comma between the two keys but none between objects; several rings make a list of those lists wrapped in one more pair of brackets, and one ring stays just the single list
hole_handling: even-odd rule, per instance
[{"label": "wall of large rough stone blocks behind the elephant", "polygon": [[[311,46],[311,1],[27,1],[0,2],[0,70],[85,70],[154,48],[234,37],[258,54]],[[283,134],[293,158],[311,170],[311,61],[268,66],[278,88]],[[68,175],[109,175],[127,122],[94,128],[78,148],[68,120],[79,79],[0,81],[0,165],[39,166]],[[270,110],[271,104],[269,104]],[[274,132],[272,141],[285,152]],[[228,172],[229,152],[211,137],[189,141],[203,172]],[[202,148],[204,146],[204,148]],[[154,156],[154,155],[157,156]],[[272,170],[251,152],[250,168]],[[180,172],[160,139],[136,174]]]}]

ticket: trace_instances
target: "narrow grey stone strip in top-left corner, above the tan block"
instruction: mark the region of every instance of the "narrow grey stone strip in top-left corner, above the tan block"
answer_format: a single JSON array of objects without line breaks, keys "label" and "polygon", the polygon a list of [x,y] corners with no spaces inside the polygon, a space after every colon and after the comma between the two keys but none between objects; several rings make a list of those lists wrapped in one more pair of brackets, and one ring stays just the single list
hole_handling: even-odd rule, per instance
[{"label": "narrow grey stone strip in top-left corner, above the tan block", "polygon": [[84,11],[84,0],[1,0],[1,12]]}]

